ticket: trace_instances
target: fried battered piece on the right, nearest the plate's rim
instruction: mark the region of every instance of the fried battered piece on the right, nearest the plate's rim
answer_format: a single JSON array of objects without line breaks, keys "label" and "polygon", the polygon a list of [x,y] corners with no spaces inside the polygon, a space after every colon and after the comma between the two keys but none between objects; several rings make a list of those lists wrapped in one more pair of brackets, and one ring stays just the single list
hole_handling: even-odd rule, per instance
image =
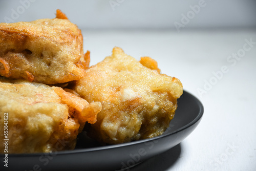
[{"label": "fried battered piece on the right, nearest the plate's rim", "polygon": [[76,81],[74,90],[82,98],[102,103],[97,122],[87,128],[89,136],[117,144],[161,135],[169,126],[182,84],[175,77],[159,74],[153,59],[142,60],[150,62],[145,67],[115,47],[111,56]]}]

